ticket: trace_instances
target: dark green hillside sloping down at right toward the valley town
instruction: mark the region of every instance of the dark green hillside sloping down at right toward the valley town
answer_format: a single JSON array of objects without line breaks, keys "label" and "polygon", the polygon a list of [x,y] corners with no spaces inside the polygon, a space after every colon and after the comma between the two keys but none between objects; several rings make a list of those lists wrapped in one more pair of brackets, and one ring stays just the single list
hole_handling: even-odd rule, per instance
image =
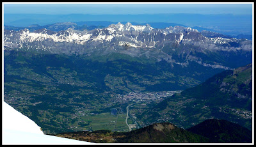
[{"label": "dark green hillside sloping down at right toward the valley town", "polygon": [[221,72],[194,88],[148,107],[137,116],[148,124],[170,121],[189,128],[218,118],[252,130],[252,64]]}]

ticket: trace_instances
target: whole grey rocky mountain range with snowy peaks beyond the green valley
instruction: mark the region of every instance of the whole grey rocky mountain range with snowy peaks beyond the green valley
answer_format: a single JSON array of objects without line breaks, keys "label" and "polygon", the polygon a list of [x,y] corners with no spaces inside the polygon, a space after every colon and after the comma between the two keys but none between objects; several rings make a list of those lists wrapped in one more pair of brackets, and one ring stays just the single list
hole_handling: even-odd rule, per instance
[{"label": "whole grey rocky mountain range with snowy peaks beyond the green valley", "polygon": [[[72,27],[58,32],[49,29],[38,29],[33,32],[28,29],[19,31],[4,29],[4,50],[13,49],[86,56],[104,56],[110,52],[117,52],[132,57],[144,56],[157,61],[165,60],[172,66],[173,64],[187,66],[188,62],[195,61],[203,66],[223,69],[237,68],[252,61],[248,61],[252,52],[250,40],[222,38],[216,33],[212,36],[205,31],[200,33],[190,27],[154,29],[149,24],[134,26],[129,22],[111,24],[103,29],[91,31],[74,30]],[[225,56],[226,52],[228,52],[227,56]],[[209,61],[212,58],[209,54],[219,57]],[[246,58],[239,57],[241,54]],[[202,58],[204,56],[207,61]],[[234,57],[238,59],[236,64],[241,62],[242,64],[227,65],[232,62],[230,58]]]}]

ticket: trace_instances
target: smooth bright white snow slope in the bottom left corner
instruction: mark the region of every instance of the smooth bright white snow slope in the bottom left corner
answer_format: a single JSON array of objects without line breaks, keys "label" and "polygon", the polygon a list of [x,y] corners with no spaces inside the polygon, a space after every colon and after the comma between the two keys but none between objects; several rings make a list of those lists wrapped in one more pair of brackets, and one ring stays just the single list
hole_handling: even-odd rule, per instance
[{"label": "smooth bright white snow slope in the bottom left corner", "polygon": [[2,144],[93,144],[44,135],[34,121],[3,101],[2,114]]}]

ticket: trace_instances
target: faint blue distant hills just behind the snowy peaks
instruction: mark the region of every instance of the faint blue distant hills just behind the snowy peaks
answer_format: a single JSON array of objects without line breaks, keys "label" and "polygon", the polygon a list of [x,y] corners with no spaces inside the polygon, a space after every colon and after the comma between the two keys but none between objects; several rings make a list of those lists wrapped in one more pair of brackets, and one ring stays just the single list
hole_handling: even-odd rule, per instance
[{"label": "faint blue distant hills just behind the snowy peaks", "polygon": [[[92,30],[92,29],[102,29],[105,26],[109,26],[111,24],[117,24],[118,22],[109,22],[109,21],[81,21],[81,22],[58,22],[58,23],[54,23],[54,24],[47,24],[44,26],[40,26],[38,24],[33,24],[30,26],[8,26],[8,25],[4,25],[4,29],[8,29],[8,30],[14,30],[14,31],[19,31],[21,29],[29,29],[29,31],[35,31],[37,29],[50,29],[51,31],[61,31],[61,30],[66,30],[69,27],[71,27],[72,29],[75,30],[79,30],[79,31],[83,31],[84,29],[87,30]],[[126,24],[127,22],[121,22],[122,24]],[[169,23],[169,22],[150,22],[150,23],[138,23],[138,22],[131,22],[133,25],[141,25],[141,26],[145,26],[147,24],[150,24],[150,26],[152,26],[153,28],[157,28],[157,29],[164,29],[166,27],[175,27],[175,26],[182,26],[182,27],[188,27],[188,26],[184,26],[182,24],[177,24],[177,23]],[[191,27],[192,29],[197,29],[198,31],[200,31],[202,34],[204,33],[208,33],[209,35],[211,35],[211,37],[215,37],[215,36],[220,36],[222,38],[237,38],[237,39],[248,39],[248,40],[252,40],[252,35],[243,35],[243,34],[239,34],[239,35],[222,35],[219,31],[216,32],[216,30],[214,29],[209,29],[209,28],[205,28],[205,27],[198,27],[198,26],[193,26]],[[210,36],[207,36],[210,37]]]}]

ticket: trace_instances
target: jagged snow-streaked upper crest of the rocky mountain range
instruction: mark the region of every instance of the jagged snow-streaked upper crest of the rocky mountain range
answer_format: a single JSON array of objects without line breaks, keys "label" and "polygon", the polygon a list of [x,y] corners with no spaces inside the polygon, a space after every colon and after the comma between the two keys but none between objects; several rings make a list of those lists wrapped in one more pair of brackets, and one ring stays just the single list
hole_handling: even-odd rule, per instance
[{"label": "jagged snow-streaked upper crest of the rocky mountain range", "polygon": [[[168,42],[200,45],[208,48],[216,43],[239,42],[236,38],[205,37],[196,29],[191,29],[190,27],[170,26],[165,29],[154,29],[149,24],[145,26],[133,26],[129,22],[127,24],[121,24],[119,22],[118,24],[111,24],[104,29],[93,29],[92,31],[78,31],[72,29],[72,27],[59,32],[53,32],[47,29],[40,29],[33,32],[30,32],[28,29],[22,29],[20,31],[4,29],[4,38],[4,46],[13,49],[24,47],[24,43],[39,43],[43,41],[67,42],[79,45],[89,42],[115,42],[115,45],[124,45],[124,43],[127,43],[131,47],[157,47],[157,49],[161,49]],[[14,40],[17,40],[17,42],[13,42]],[[250,42],[247,40],[247,42],[243,43],[248,44]],[[40,44],[38,44],[38,48],[40,48]],[[47,50],[50,47],[44,48],[41,45],[41,48]],[[217,48],[211,47],[211,49]],[[248,50],[248,47],[241,46],[239,49]]]}]

